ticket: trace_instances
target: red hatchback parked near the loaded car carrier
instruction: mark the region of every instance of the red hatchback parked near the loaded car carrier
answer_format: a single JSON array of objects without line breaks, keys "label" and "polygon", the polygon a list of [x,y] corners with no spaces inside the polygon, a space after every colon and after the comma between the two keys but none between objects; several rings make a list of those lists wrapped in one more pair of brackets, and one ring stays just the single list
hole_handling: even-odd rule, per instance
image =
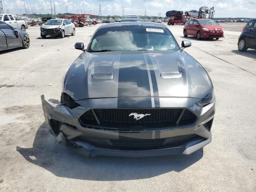
[{"label": "red hatchback parked near the loaded car carrier", "polygon": [[224,37],[222,26],[211,19],[192,19],[186,22],[183,34],[184,37],[188,35],[195,36],[198,40],[202,38],[215,38],[218,40]]}]

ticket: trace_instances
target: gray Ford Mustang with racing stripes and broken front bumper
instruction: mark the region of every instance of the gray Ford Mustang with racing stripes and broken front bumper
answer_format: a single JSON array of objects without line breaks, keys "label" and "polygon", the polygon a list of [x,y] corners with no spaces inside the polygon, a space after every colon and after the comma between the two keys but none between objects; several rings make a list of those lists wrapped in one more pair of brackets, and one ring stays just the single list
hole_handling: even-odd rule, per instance
[{"label": "gray Ford Mustang with racing stripes and broken front bumper", "polygon": [[100,26],[62,82],[41,96],[50,133],[86,155],[191,154],[211,141],[215,96],[206,70],[162,24]]}]

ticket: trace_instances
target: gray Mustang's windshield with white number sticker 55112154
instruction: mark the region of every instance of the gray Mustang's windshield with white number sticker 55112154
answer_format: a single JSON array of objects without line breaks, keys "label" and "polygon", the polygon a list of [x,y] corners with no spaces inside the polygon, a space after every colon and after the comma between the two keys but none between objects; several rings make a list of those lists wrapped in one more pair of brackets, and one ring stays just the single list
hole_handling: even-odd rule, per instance
[{"label": "gray Mustang's windshield with white number sticker 55112154", "polygon": [[102,28],[96,32],[88,47],[88,52],[122,50],[180,49],[166,28],[145,26]]}]

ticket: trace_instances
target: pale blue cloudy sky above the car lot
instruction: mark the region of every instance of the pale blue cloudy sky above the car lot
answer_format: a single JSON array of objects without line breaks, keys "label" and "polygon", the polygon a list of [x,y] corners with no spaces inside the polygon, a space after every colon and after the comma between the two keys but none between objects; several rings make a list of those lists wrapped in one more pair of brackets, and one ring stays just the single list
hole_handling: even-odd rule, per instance
[{"label": "pale blue cloudy sky above the car lot", "polygon": [[[57,13],[68,12],[98,14],[99,4],[103,16],[146,15],[165,16],[168,10],[198,10],[201,6],[213,7],[214,17],[256,17],[256,0],[52,0]],[[51,13],[50,0],[25,0],[29,13]],[[2,0],[4,12],[11,14],[25,13],[24,0]]]}]

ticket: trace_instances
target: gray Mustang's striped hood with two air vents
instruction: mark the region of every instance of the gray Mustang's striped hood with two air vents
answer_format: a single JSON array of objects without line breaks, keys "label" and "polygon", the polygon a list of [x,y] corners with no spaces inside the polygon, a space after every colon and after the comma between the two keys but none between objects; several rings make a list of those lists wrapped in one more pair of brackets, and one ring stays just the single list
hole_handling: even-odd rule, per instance
[{"label": "gray Mustang's striped hood with two air vents", "polygon": [[117,97],[203,98],[212,85],[206,70],[184,51],[82,53],[63,90],[74,100]]}]

